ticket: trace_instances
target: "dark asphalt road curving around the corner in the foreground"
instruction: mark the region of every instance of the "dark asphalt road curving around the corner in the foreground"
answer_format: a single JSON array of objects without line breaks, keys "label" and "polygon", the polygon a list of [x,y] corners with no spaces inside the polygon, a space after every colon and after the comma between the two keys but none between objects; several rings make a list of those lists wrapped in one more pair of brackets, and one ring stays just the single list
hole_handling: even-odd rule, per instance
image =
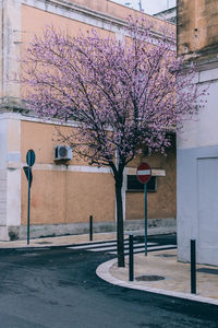
[{"label": "dark asphalt road curving around the corner in the foreground", "polygon": [[0,328],[218,327],[218,307],[108,284],[111,255],[56,247],[0,250]]}]

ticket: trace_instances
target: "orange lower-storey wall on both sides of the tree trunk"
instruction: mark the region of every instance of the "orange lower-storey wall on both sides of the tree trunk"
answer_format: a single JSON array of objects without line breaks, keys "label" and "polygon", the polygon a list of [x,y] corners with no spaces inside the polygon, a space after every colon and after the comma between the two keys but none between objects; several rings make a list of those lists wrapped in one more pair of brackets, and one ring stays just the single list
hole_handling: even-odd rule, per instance
[{"label": "orange lower-storey wall on both sides of the tree trunk", "polygon": [[[61,127],[62,131],[69,127]],[[88,168],[84,162],[73,160],[69,168],[53,163],[56,126],[22,121],[22,162],[26,152],[34,149],[32,223],[55,224],[87,222],[93,214],[96,222],[114,221],[114,181],[110,173],[72,172],[73,166]],[[165,169],[166,177],[157,177],[157,192],[148,192],[148,218],[175,218],[175,150],[167,156],[155,154],[138,156],[130,163],[137,167],[148,162],[152,168]],[[27,181],[22,173],[22,224],[26,224]],[[126,220],[144,218],[144,194],[126,192]]]}]

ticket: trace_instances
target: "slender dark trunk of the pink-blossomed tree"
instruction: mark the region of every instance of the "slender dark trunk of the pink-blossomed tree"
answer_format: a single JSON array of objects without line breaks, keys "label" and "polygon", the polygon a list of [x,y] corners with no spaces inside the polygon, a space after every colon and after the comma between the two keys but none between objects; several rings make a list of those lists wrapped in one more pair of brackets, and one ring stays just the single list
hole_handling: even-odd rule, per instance
[{"label": "slender dark trunk of the pink-blossomed tree", "polygon": [[123,242],[122,180],[123,174],[119,173],[118,177],[116,178],[118,267],[125,266]]}]

